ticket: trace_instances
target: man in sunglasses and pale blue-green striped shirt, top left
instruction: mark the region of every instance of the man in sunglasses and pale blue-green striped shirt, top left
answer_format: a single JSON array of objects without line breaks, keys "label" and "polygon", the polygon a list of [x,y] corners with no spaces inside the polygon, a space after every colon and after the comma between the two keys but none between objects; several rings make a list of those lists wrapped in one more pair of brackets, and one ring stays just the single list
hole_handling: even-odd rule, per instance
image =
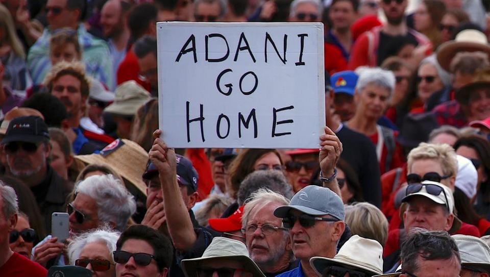
[{"label": "man in sunglasses and pale blue-green striped shirt, top left", "polygon": [[34,84],[41,84],[51,68],[49,48],[51,36],[58,29],[70,28],[77,31],[83,48],[83,61],[90,75],[114,89],[112,60],[105,41],[87,32],[81,21],[86,12],[87,0],[48,0],[45,11],[49,27],[32,45],[27,63]]}]

